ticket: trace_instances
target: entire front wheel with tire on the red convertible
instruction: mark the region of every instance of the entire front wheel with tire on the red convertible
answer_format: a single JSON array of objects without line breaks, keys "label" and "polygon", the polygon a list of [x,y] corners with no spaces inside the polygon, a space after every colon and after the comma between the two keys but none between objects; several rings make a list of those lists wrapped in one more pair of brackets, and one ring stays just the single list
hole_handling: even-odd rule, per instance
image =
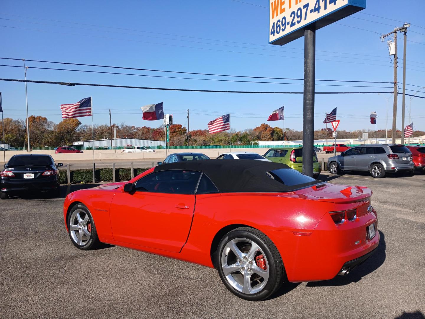
[{"label": "entire front wheel with tire on the red convertible", "polygon": [[93,217],[85,205],[78,203],[71,208],[67,225],[69,238],[78,249],[88,251],[100,244]]}]

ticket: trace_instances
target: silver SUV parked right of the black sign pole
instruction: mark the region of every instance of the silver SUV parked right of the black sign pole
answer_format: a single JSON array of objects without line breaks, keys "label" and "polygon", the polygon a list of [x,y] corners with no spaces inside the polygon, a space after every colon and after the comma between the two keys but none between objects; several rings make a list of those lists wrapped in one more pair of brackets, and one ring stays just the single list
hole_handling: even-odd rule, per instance
[{"label": "silver SUV parked right of the black sign pole", "polygon": [[331,174],[341,170],[369,171],[372,177],[382,178],[387,173],[413,173],[412,153],[400,144],[366,144],[349,148],[340,155],[329,157]]}]

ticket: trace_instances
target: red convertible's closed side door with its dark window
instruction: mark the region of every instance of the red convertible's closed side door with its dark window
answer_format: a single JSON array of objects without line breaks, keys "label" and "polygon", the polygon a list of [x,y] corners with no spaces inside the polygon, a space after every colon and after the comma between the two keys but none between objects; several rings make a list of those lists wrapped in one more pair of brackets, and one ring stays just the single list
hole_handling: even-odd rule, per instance
[{"label": "red convertible's closed side door with its dark window", "polygon": [[134,191],[117,191],[110,208],[113,238],[180,252],[189,236],[200,175],[183,170],[153,172],[134,182]]}]

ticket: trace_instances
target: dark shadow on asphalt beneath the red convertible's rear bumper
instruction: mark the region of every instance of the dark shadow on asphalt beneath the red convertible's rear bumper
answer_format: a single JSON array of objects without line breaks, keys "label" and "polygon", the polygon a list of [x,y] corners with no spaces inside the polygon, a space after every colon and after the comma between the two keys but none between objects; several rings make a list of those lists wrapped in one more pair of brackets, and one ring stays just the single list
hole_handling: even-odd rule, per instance
[{"label": "dark shadow on asphalt beneath the red convertible's rear bumper", "polygon": [[331,280],[308,282],[306,287],[329,287],[329,286],[344,286],[349,285],[353,282],[359,282],[364,276],[377,270],[385,261],[386,244],[385,235],[382,231],[379,231],[380,241],[377,251],[365,260],[362,264],[352,269],[347,276],[336,276]]}]

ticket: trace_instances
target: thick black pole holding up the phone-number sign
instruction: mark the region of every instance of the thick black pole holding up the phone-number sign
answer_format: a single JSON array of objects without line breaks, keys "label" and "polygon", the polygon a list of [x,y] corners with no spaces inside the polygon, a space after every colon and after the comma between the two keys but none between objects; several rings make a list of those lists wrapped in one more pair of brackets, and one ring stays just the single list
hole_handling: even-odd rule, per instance
[{"label": "thick black pole holding up the phone-number sign", "polygon": [[313,177],[314,76],[316,67],[316,30],[304,31],[304,101],[303,101],[303,173]]}]

